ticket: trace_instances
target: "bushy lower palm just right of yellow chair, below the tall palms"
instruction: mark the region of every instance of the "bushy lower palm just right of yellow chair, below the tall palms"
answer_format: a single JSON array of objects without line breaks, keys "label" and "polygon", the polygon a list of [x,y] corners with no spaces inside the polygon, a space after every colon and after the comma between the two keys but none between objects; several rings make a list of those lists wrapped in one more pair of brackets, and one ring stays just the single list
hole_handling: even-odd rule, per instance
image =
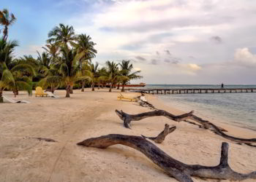
[{"label": "bushy lower palm just right of yellow chair, below the tall palms", "polygon": [[62,77],[62,82],[66,86],[66,98],[69,98],[69,93],[72,85],[80,80],[90,79],[89,76],[82,76],[75,50],[69,50],[67,46],[61,48],[61,61],[59,63],[59,73]]}]

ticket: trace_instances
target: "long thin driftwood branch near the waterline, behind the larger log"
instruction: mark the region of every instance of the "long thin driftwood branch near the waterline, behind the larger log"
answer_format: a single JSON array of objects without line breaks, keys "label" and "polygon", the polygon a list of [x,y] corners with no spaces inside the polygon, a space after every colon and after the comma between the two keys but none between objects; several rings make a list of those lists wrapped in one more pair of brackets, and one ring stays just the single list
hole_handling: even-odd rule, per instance
[{"label": "long thin driftwood branch near the waterline, behind the larger log", "polygon": [[170,114],[169,112],[163,111],[163,110],[149,111],[149,112],[140,113],[140,114],[127,114],[124,111],[116,110],[116,114],[124,121],[124,127],[127,127],[127,128],[130,128],[129,127],[130,122],[139,121],[140,119],[145,119],[145,118],[151,117],[151,116],[165,116],[168,119],[171,119],[176,122],[181,122],[186,119],[192,119],[195,122],[202,124],[204,128],[212,129],[212,130],[214,130],[214,132],[217,135],[220,135],[223,138],[226,138],[230,141],[235,141],[237,143],[245,143],[245,144],[256,143],[256,138],[236,138],[236,137],[225,134],[222,131],[227,131],[227,130],[222,129],[221,127],[217,127],[215,124],[212,124],[211,122],[208,122],[206,120],[201,119],[198,116],[195,116],[193,114],[193,111],[191,111],[187,114],[181,114],[178,116],[175,116],[175,115]]}]

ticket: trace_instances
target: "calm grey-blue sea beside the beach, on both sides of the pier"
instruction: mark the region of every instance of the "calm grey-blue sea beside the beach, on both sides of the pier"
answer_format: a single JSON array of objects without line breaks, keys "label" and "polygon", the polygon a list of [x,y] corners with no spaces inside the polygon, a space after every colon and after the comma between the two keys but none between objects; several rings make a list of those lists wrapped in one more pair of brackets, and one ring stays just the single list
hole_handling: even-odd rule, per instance
[{"label": "calm grey-blue sea beside the beach, on both sides of the pier", "polygon": [[[147,84],[144,88],[220,88],[214,84]],[[256,88],[256,85],[224,85]],[[209,121],[221,121],[256,130],[256,92],[157,95],[166,105],[195,111]]]}]

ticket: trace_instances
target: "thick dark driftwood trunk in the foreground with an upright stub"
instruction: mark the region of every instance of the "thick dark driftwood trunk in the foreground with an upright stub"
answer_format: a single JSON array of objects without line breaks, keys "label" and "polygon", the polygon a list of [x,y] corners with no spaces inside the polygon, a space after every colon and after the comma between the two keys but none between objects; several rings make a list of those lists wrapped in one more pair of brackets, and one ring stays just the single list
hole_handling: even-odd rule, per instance
[{"label": "thick dark driftwood trunk in the foreground with an upright stub", "polygon": [[208,167],[203,165],[187,165],[167,155],[153,143],[140,136],[110,134],[97,138],[89,138],[77,143],[79,146],[96,147],[106,149],[108,146],[121,144],[132,147],[151,159],[162,170],[176,178],[178,181],[192,181],[191,176],[200,178],[216,178],[229,180],[244,180],[246,178],[256,179],[256,171],[248,174],[241,174],[233,171],[227,163],[228,143],[222,143],[222,151],[219,165]]}]

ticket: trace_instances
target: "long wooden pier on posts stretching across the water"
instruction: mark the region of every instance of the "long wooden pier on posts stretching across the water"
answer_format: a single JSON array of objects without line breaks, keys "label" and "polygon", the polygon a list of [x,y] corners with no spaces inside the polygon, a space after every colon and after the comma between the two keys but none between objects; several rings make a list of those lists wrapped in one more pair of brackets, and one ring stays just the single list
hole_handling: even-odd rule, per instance
[{"label": "long wooden pier on posts stretching across the water", "polygon": [[140,89],[132,90],[132,92],[142,92],[148,94],[195,94],[195,93],[241,93],[256,92],[256,88],[195,88],[195,89]]}]

